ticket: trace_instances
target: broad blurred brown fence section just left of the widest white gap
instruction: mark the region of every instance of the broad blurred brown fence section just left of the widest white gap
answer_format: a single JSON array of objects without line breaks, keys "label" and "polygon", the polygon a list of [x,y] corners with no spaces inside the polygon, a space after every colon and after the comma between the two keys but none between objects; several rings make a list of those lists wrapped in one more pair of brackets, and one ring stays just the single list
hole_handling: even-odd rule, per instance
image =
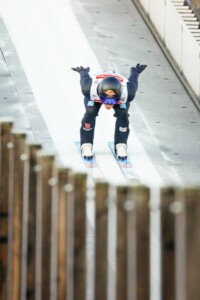
[{"label": "broad blurred brown fence section just left of the widest white gap", "polygon": [[149,189],[117,189],[117,300],[150,299]]}]

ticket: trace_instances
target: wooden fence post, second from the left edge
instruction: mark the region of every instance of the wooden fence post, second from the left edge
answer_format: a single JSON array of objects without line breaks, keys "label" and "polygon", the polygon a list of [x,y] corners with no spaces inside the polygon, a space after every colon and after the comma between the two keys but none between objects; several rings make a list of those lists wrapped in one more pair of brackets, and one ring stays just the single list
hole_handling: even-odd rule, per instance
[{"label": "wooden fence post, second from the left edge", "polygon": [[18,300],[21,297],[21,276],[22,276],[22,232],[23,232],[23,204],[25,201],[25,170],[28,163],[26,147],[26,135],[23,133],[13,134],[14,140],[14,180],[13,180],[13,201],[12,201],[12,267],[10,286],[11,300]]}]

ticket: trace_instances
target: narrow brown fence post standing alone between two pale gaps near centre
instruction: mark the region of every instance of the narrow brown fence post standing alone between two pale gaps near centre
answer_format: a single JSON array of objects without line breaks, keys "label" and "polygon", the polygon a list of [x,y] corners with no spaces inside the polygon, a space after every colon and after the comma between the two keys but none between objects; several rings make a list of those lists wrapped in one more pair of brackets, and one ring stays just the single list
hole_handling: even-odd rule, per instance
[{"label": "narrow brown fence post standing alone between two pale gaps near centre", "polygon": [[108,290],[108,184],[95,186],[95,299],[107,299]]}]

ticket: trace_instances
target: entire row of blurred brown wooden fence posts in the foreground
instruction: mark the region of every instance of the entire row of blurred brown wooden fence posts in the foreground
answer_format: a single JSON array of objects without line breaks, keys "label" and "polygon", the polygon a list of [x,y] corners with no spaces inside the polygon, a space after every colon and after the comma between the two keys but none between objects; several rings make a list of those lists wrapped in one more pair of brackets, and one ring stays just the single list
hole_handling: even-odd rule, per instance
[{"label": "entire row of blurred brown wooden fence posts in the foreground", "polygon": [[[0,299],[84,300],[88,289],[95,300],[108,299],[111,207],[115,299],[150,299],[151,190],[106,182],[88,186],[86,174],[58,167],[54,156],[28,145],[12,126],[0,122]],[[91,199],[94,266],[87,282]],[[162,299],[198,300],[200,189],[163,188],[159,209]]]}]

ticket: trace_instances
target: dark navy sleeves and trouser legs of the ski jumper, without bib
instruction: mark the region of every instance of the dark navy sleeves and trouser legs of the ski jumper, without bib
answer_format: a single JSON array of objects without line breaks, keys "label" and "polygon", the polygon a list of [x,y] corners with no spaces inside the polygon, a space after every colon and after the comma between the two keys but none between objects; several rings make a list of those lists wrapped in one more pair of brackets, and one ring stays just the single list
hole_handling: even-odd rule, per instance
[{"label": "dark navy sleeves and trouser legs of the ski jumper, without bib", "polygon": [[[131,74],[127,82],[128,98],[126,102],[126,108],[121,108],[119,104],[113,105],[113,109],[115,111],[114,117],[116,117],[114,134],[115,145],[118,143],[127,144],[130,131],[128,110],[130,107],[130,102],[134,99],[138,88],[138,76],[139,73],[136,70],[131,69]],[[81,90],[85,96],[84,104],[86,109],[81,122],[80,142],[81,145],[84,143],[93,144],[96,117],[98,116],[98,112],[102,103],[94,102],[93,106],[88,106],[88,101],[90,101],[90,90],[92,86],[92,78],[89,75],[89,69],[81,70],[80,77]]]}]

